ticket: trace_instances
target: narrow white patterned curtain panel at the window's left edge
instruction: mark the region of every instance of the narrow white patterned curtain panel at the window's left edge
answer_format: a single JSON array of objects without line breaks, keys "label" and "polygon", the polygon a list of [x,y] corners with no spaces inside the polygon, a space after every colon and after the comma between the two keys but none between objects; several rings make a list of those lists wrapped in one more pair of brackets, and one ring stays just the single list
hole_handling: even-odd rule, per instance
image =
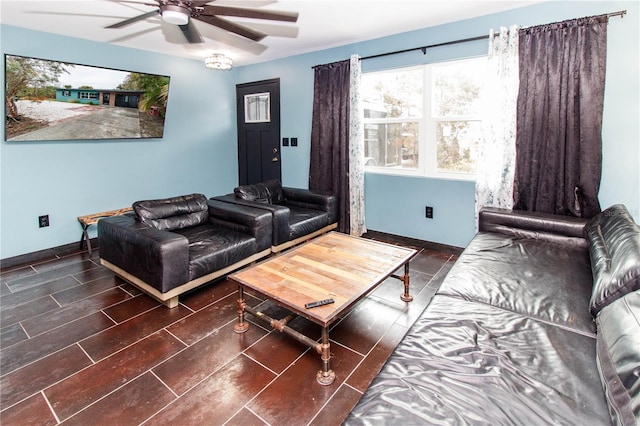
[{"label": "narrow white patterned curtain panel at the window's left edge", "polygon": [[351,55],[349,84],[349,204],[350,233],[361,236],[367,232],[364,223],[364,128],[360,104],[360,57]]}]

